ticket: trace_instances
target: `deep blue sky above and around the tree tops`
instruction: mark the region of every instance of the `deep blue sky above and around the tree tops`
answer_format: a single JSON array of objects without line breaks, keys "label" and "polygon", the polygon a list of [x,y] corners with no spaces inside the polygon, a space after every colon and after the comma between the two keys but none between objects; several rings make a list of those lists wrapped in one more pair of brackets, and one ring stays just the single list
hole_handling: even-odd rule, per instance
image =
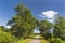
[{"label": "deep blue sky above and around the tree tops", "polygon": [[50,11],[52,14],[58,12],[57,14],[65,16],[65,0],[0,0],[0,25],[6,26],[8,20],[15,15],[14,8],[18,3],[29,8],[38,19],[43,19],[39,15]]}]

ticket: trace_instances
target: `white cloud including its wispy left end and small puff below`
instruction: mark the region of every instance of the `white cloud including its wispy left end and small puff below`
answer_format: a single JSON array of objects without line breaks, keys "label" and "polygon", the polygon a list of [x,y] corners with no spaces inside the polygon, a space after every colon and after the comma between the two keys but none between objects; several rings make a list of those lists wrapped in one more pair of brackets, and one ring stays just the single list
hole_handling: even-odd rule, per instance
[{"label": "white cloud including its wispy left end and small puff below", "polygon": [[42,12],[40,16],[47,17],[50,23],[53,23],[56,14],[58,14],[58,12],[46,11],[46,12]]}]

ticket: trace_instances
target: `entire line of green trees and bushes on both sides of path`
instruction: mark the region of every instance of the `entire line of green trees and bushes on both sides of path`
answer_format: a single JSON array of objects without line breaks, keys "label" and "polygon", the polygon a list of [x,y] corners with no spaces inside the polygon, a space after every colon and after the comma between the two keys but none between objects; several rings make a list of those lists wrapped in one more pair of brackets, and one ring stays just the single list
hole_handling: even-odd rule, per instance
[{"label": "entire line of green trees and bushes on both sides of path", "polygon": [[[40,34],[50,43],[60,43],[60,40],[65,40],[65,17],[57,16],[55,24],[52,24],[48,20],[38,20],[32,16],[31,11],[23,4],[18,4],[15,11],[16,15],[8,22],[11,28],[0,28],[0,43],[16,43],[18,39],[34,34],[34,29],[37,27],[39,27]],[[50,32],[52,28],[53,32]]]}]

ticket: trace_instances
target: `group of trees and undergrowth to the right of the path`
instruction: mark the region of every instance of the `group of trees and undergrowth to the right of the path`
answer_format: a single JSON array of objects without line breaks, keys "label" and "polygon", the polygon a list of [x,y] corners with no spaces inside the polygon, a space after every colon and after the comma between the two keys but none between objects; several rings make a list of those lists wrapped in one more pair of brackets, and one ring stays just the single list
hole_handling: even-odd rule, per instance
[{"label": "group of trees and undergrowth to the right of the path", "polygon": [[[50,43],[65,43],[65,17],[58,15],[55,19],[55,24],[51,24],[47,20],[40,23],[41,35],[44,37]],[[53,29],[52,31],[50,31]]]}]

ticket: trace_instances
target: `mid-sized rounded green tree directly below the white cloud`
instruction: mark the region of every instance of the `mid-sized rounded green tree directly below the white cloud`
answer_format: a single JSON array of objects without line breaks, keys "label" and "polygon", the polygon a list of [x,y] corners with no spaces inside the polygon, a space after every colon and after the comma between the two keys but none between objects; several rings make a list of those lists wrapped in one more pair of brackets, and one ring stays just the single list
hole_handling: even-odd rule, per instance
[{"label": "mid-sized rounded green tree directly below the white cloud", "polygon": [[41,32],[42,35],[46,35],[48,38],[48,35],[50,35],[51,33],[49,33],[50,29],[53,27],[52,23],[49,23],[47,20],[41,20],[40,22],[40,26],[39,26],[39,30]]}]

